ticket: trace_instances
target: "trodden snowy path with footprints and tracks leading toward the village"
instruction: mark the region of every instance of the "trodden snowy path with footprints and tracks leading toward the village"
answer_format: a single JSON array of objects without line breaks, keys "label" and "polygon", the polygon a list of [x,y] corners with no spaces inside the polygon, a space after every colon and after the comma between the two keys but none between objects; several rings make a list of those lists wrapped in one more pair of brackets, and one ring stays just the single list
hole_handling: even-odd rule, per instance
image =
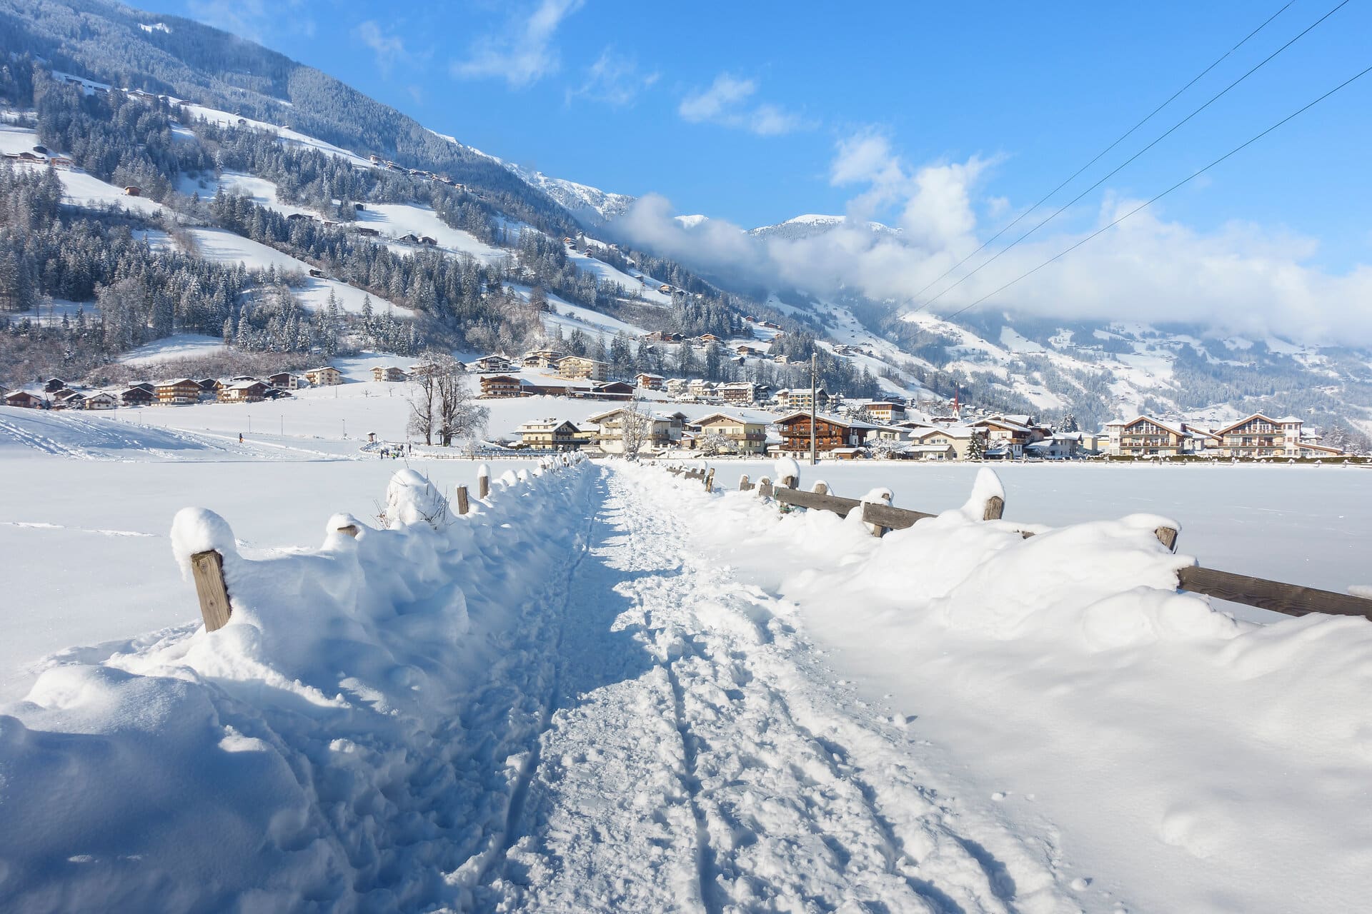
[{"label": "trodden snowy path with footprints and tracks leading toward the village", "polygon": [[1051,840],[1013,836],[930,787],[906,721],[834,682],[788,604],[691,552],[701,515],[631,474],[602,471],[597,485],[556,710],[486,904],[1078,907]]}]

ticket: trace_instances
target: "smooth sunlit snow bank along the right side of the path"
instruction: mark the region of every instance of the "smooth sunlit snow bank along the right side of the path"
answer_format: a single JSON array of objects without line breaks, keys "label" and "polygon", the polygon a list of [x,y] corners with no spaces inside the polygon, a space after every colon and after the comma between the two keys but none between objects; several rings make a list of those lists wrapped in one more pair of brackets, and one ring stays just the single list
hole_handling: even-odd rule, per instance
[{"label": "smooth sunlit snow bank along the right side of the path", "polygon": [[860,703],[932,740],[941,770],[1052,822],[1084,895],[1238,913],[1372,893],[1367,619],[1254,625],[1177,593],[1187,532],[1169,554],[1157,515],[1024,540],[952,510],[875,539],[856,515],[675,488],[687,549],[792,600]]}]

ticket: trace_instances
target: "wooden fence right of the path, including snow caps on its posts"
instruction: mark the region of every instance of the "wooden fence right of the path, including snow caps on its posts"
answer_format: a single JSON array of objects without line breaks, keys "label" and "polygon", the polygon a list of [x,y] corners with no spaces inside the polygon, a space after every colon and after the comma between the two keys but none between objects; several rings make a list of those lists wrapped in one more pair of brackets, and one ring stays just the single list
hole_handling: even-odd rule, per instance
[{"label": "wooden fence right of the path, including snow caps on its posts", "polygon": [[[674,475],[702,480],[705,489],[711,491],[715,471],[700,467],[686,469],[668,466],[668,473]],[[848,517],[852,511],[860,511],[863,523],[874,536],[882,536],[886,530],[903,530],[914,526],[926,518],[937,517],[925,511],[911,511],[897,508],[890,504],[889,491],[885,499],[873,497],[871,493],[863,499],[847,499],[829,492],[825,482],[816,482],[815,491],[800,489],[800,467],[794,460],[778,460],[777,475],[779,484],[774,485],[770,478],[761,477],[753,484],[748,475],[738,481],[741,492],[756,491],[759,497],[771,499],[782,506],[782,510],[807,508],[812,511],[833,511],[838,517]],[[973,502],[969,502],[982,521],[1000,521],[1004,515],[1006,499],[1004,488],[995,471],[982,469],[977,474],[973,489]],[[965,511],[969,508],[963,508]],[[1177,551],[1177,537],[1180,525],[1159,525],[1154,533],[1158,541],[1170,552]],[[1019,534],[1029,539],[1039,530],[1019,530]],[[1192,565],[1177,570],[1177,589],[1191,593],[1202,593],[1231,603],[1254,606],[1286,615],[1308,615],[1310,613],[1324,613],[1328,615],[1361,615],[1372,619],[1372,599],[1321,591],[1318,588],[1302,586],[1299,584],[1286,584],[1269,578],[1236,574]]]}]

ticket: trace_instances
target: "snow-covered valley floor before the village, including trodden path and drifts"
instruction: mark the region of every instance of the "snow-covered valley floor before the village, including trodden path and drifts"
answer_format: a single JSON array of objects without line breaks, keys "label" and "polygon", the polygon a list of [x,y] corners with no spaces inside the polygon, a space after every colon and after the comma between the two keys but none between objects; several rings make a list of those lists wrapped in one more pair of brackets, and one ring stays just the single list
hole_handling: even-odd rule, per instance
[{"label": "snow-covered valley floor before the village, including trodden path and drifts", "polygon": [[[1238,914],[1372,892],[1369,623],[1236,622],[1170,584],[1190,555],[1369,582],[1372,477],[996,467],[1006,518],[1056,528],[1022,540],[956,510],[975,467],[803,467],[948,511],[878,540],[583,465],[512,474],[435,532],[421,515],[477,467],[392,480],[406,463],[357,451],[369,410],[403,418],[369,384],[141,411],[167,428],[0,408],[0,907]],[[243,444],[204,430],[250,411]],[[724,489],[775,475],[715,466]],[[232,530],[173,529],[187,506]],[[358,540],[329,533],[351,519]],[[207,634],[177,556],[211,545],[235,615]]]}]

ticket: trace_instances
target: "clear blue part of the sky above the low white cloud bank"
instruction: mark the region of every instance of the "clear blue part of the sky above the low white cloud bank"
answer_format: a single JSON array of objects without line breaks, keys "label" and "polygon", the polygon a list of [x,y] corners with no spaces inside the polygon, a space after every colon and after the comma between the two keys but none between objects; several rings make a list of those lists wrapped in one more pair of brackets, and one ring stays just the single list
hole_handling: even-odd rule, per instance
[{"label": "clear blue part of the sky above the low white cloud bank", "polygon": [[[842,212],[853,188],[831,163],[860,132],[911,166],[991,159],[984,196],[1032,203],[1281,3],[148,5],[261,40],[502,158],[750,226]],[[1126,145],[1332,5],[1294,3]],[[1368,5],[1350,3],[1109,186],[1166,186],[1372,63],[1368,34]],[[1283,223],[1335,262],[1360,259],[1369,103],[1372,79],[1350,86],[1166,211],[1202,229]]]}]

